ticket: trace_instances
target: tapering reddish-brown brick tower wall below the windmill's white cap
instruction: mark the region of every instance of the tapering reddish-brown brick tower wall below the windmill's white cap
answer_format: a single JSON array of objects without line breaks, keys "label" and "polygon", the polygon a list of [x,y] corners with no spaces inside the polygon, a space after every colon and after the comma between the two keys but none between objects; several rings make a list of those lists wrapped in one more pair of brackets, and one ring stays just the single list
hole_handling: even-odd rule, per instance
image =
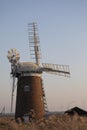
[{"label": "tapering reddish-brown brick tower wall below the windmill's white cap", "polygon": [[35,111],[36,118],[44,115],[44,101],[42,91],[42,80],[39,76],[21,76],[17,83],[17,98],[15,117],[21,117]]}]

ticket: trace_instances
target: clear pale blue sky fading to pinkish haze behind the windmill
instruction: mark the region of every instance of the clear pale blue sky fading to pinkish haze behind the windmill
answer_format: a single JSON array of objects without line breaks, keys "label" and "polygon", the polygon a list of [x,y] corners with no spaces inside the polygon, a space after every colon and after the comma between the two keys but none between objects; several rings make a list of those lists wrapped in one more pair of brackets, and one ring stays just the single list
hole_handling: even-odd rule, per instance
[{"label": "clear pale blue sky fading to pinkish haze behind the windmill", "polygon": [[[38,24],[41,63],[69,65],[70,78],[43,73],[49,111],[87,110],[87,0],[0,0],[0,111],[10,112],[12,78],[7,52],[29,61],[28,23]],[[16,89],[14,93],[15,111]]]}]

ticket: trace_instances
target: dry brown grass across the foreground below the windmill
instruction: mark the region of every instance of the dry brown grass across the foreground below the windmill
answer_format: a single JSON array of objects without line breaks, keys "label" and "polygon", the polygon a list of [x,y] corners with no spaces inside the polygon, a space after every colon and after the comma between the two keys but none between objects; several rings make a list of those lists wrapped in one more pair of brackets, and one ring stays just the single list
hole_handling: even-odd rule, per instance
[{"label": "dry brown grass across the foreground below the windmill", "polygon": [[10,117],[0,118],[0,130],[87,130],[87,117],[51,115],[35,122],[19,124]]}]

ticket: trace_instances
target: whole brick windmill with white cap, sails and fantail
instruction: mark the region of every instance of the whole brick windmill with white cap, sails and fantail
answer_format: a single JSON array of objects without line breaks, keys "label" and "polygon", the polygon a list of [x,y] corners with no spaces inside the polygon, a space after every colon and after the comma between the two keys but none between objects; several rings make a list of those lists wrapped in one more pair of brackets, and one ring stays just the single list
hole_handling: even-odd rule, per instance
[{"label": "whole brick windmill with white cap, sails and fantail", "polygon": [[15,79],[17,78],[15,118],[23,117],[33,110],[36,118],[39,119],[42,118],[47,111],[42,73],[47,72],[67,77],[70,75],[70,71],[68,65],[41,64],[37,24],[28,24],[28,29],[30,52],[35,62],[20,62],[20,54],[16,49],[11,49],[7,55],[9,62],[11,62],[11,75],[13,77],[11,111],[13,107]]}]

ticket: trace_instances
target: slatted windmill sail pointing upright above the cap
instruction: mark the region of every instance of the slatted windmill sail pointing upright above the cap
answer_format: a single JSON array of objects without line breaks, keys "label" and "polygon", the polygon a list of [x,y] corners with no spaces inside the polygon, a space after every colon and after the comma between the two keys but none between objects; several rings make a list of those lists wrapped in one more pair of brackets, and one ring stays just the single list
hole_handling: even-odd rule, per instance
[{"label": "slatted windmill sail pointing upright above the cap", "polygon": [[28,24],[28,34],[29,34],[29,47],[31,58],[35,59],[37,65],[40,63],[41,53],[40,53],[40,41],[38,35],[38,28],[36,23]]}]

